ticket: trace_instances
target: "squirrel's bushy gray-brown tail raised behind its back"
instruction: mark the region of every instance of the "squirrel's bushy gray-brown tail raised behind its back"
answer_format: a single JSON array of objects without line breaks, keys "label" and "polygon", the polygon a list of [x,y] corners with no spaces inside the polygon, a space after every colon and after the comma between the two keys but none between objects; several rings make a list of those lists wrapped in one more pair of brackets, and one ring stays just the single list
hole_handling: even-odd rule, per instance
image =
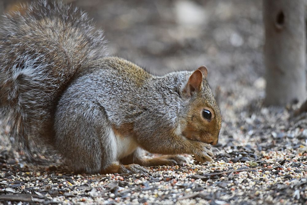
[{"label": "squirrel's bushy gray-brown tail raised behind its back", "polygon": [[52,145],[60,95],[81,65],[106,55],[104,43],[87,14],[69,5],[41,0],[3,17],[0,123],[25,150]]}]

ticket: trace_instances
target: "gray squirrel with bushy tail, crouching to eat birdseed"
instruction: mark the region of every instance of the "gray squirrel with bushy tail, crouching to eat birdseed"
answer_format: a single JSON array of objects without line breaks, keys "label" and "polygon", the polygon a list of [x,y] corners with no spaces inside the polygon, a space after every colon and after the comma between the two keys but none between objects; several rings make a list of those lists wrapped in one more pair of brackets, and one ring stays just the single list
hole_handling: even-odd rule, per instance
[{"label": "gray squirrel with bushy tail, crouching to eat birdseed", "polygon": [[[89,22],[46,0],[4,16],[0,120],[9,135],[30,155],[52,150],[72,172],[139,173],[182,164],[178,154],[210,161],[222,119],[207,68],[152,75],[108,56]],[[164,156],[145,159],[142,150]]]}]

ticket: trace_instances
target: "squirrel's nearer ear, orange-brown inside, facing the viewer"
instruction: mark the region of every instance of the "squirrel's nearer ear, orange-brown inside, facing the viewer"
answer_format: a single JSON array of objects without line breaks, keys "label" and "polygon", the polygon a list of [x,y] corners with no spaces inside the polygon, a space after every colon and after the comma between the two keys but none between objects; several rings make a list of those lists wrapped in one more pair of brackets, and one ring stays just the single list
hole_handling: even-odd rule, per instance
[{"label": "squirrel's nearer ear, orange-brown inside, facing the viewer", "polygon": [[201,90],[201,84],[203,81],[203,74],[201,70],[197,69],[190,76],[188,83],[183,89],[182,93],[186,98],[189,98],[193,95],[194,92],[198,92]]}]

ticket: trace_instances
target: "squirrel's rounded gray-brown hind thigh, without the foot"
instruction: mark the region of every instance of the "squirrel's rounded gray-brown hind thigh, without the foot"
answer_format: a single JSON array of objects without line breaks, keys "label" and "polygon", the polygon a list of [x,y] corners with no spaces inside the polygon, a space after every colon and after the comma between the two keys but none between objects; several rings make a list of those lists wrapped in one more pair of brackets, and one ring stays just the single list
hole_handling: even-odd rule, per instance
[{"label": "squirrel's rounded gray-brown hind thigh, without the foot", "polygon": [[100,173],[117,161],[107,116],[93,103],[66,100],[56,111],[56,148],[70,171]]}]

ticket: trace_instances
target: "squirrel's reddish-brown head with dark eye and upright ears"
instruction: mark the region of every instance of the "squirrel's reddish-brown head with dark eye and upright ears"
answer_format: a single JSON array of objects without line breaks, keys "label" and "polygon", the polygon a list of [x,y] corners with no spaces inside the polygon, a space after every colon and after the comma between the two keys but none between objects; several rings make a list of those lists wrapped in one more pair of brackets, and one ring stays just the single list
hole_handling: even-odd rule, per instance
[{"label": "squirrel's reddish-brown head with dark eye and upright ears", "polygon": [[207,82],[208,70],[201,66],[192,73],[182,90],[188,103],[182,134],[189,140],[216,145],[219,141],[222,118]]}]

